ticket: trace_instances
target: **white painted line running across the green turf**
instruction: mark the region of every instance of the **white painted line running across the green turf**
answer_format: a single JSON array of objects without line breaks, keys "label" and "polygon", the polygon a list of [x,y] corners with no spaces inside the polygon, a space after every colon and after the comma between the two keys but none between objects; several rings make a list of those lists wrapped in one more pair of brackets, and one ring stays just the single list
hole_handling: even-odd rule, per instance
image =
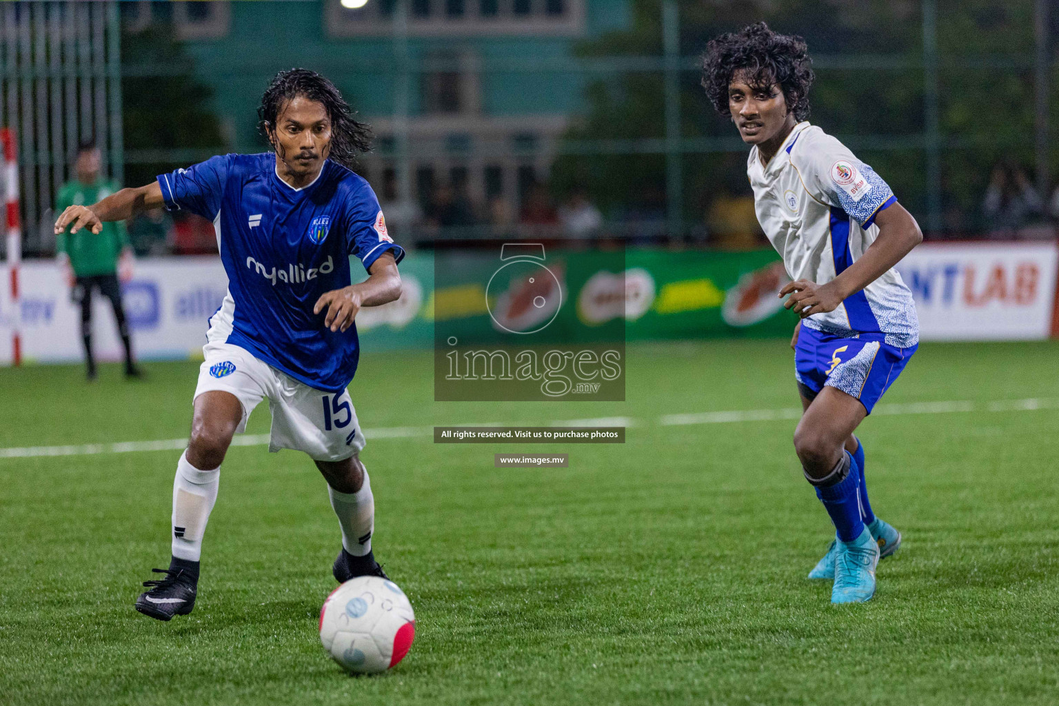
[{"label": "white painted line running across the green turf", "polygon": [[[961,412],[1033,412],[1036,410],[1059,409],[1059,399],[1030,397],[1015,400],[994,400],[992,402],[971,401],[938,401],[938,402],[905,402],[895,404],[879,404],[874,414],[951,414]],[[667,414],[659,417],[661,427],[685,424],[722,424],[740,421],[777,421],[782,419],[797,419],[802,410],[786,408],[779,410],[739,410],[729,412],[700,412],[696,414]],[[552,427],[636,427],[639,420],[632,417],[600,417],[596,419],[568,419],[553,421]],[[469,427],[472,424],[461,424]],[[496,427],[498,423],[474,424]],[[525,424],[522,424],[525,426]],[[429,438],[431,427],[380,427],[364,430],[369,439],[394,438]],[[232,446],[250,447],[265,446],[269,442],[268,434],[244,434],[232,439]],[[186,438],[157,439],[154,441],[115,441],[110,443],[80,443],[71,446],[50,447],[10,447],[0,448],[0,458],[32,458],[36,456],[91,456],[110,453],[132,453],[137,451],[180,451],[187,446]]]}]

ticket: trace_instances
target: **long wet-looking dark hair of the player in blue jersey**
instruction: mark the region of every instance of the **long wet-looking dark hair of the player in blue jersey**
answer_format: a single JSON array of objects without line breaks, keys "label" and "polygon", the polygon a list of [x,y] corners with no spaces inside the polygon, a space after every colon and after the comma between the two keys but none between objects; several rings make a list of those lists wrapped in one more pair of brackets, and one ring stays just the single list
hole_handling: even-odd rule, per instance
[{"label": "long wet-looking dark hair of the player in blue jersey", "polygon": [[257,117],[261,119],[257,130],[275,149],[276,145],[270,130],[275,130],[275,121],[283,105],[299,95],[323,104],[331,123],[328,159],[352,168],[357,161],[357,155],[371,149],[372,128],[354,120],[353,109],[342,98],[335,84],[316,71],[291,69],[275,75],[265,89],[262,105],[257,108]]}]

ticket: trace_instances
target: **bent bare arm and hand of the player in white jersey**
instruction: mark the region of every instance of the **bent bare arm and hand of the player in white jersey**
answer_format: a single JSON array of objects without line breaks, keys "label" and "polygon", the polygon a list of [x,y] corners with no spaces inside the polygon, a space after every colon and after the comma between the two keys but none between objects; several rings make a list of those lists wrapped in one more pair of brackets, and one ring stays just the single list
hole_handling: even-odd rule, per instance
[{"label": "bent bare arm and hand of the player in white jersey", "polygon": [[779,290],[780,297],[790,294],[784,306],[793,308],[802,319],[814,313],[834,311],[843,300],[878,279],[922,242],[923,234],[919,224],[900,203],[880,211],[875,222],[879,227],[879,235],[856,263],[824,285],[808,279],[788,283]]}]

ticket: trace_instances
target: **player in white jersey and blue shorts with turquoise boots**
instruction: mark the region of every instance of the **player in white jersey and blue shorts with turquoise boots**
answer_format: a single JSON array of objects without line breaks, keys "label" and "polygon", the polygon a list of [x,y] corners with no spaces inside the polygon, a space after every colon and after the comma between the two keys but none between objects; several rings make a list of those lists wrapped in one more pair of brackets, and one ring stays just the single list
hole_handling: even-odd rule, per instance
[{"label": "player in white jersey and blue shorts with turquoise boots", "polygon": [[836,528],[809,578],[833,579],[831,601],[848,603],[875,595],[876,564],[901,542],[868,504],[854,431],[918,345],[912,293],[893,268],[922,234],[872,167],[805,120],[812,79],[805,42],[758,22],[710,42],[702,85],[751,145],[757,219],[792,279],[779,295],[801,318],[794,450]]}]

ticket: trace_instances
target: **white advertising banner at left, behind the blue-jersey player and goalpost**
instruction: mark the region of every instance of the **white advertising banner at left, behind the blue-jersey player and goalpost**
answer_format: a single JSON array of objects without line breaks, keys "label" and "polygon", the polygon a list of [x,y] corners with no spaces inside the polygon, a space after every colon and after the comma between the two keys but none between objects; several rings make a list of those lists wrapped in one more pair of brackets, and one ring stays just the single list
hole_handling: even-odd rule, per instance
[{"label": "white advertising banner at left, behind the blue-jersey player and goalpost", "polygon": [[[0,364],[12,358],[15,314],[5,271],[0,292]],[[80,306],[71,301],[70,286],[50,260],[23,263],[21,288],[22,357],[29,362],[79,361]],[[228,277],[217,257],[141,259],[133,277],[123,285],[125,315],[138,358],[186,359],[201,356],[207,320],[220,306]],[[121,360],[122,346],[110,301],[92,295],[92,344],[98,360]]]}]

